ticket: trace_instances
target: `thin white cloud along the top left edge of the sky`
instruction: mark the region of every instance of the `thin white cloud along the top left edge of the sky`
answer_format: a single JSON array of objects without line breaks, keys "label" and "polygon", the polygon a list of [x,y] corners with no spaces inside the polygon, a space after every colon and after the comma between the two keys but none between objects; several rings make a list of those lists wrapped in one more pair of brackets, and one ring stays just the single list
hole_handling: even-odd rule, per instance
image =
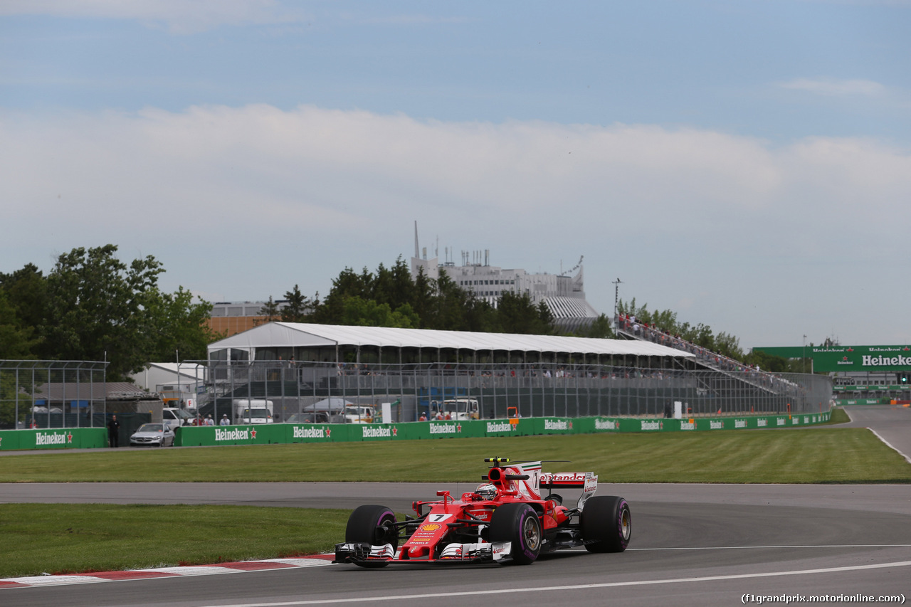
[{"label": "thin white cloud along the top left edge of the sky", "polygon": [[275,0],[5,0],[0,15],[129,19],[191,34],[218,26],[300,22],[303,15]]}]

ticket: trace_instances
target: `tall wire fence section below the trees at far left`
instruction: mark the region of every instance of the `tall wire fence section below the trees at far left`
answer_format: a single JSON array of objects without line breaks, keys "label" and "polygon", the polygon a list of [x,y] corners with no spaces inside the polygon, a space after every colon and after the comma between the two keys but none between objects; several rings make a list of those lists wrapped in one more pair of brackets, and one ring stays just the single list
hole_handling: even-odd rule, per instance
[{"label": "tall wire fence section below the trees at far left", "polygon": [[0,360],[0,429],[104,427],[107,363]]}]

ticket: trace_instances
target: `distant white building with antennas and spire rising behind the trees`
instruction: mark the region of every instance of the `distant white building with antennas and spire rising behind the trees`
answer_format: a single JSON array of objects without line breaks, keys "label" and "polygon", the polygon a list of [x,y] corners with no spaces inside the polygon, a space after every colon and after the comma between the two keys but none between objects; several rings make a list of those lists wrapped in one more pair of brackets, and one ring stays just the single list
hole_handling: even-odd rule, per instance
[{"label": "distant white building with antennas and spire rising behind the trees", "polygon": [[582,278],[582,258],[565,273],[527,273],[525,270],[499,268],[489,264],[490,252],[462,252],[462,264],[438,258],[427,259],[426,247],[418,248],[417,223],[415,222],[415,256],[411,258],[411,274],[416,277],[423,270],[426,277],[436,280],[440,271],[456,284],[476,297],[496,306],[504,292],[527,293],[534,304],[544,302],[554,315],[556,324],[567,330],[587,326],[599,314],[585,299]]}]

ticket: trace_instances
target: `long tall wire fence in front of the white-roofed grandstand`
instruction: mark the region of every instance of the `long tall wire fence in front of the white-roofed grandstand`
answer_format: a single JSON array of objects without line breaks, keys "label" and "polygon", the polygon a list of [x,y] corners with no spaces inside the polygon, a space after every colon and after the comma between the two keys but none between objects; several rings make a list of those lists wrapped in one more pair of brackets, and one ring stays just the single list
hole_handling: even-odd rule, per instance
[{"label": "long tall wire fence in front of the white-roofed grandstand", "polygon": [[[428,417],[446,399],[471,399],[479,417],[662,417],[675,401],[692,417],[827,410],[827,376],[773,376],[752,369],[718,371],[610,365],[336,365],[287,361],[188,362],[200,366],[199,409],[236,417],[236,403],[270,402],[279,421],[340,403],[394,403],[397,421]],[[328,403],[326,399],[332,398]],[[323,407],[323,409],[321,409]],[[513,410],[514,407],[514,410]],[[330,409],[332,409],[330,411]],[[336,421],[343,421],[337,418]]]}]

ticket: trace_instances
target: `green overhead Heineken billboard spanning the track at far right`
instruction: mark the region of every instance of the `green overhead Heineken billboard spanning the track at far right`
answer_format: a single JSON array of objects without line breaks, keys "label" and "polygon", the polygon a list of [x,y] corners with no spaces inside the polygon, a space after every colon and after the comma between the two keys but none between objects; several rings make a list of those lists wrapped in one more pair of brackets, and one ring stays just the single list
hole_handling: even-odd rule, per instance
[{"label": "green overhead Heineken billboard spanning the track at far right", "polygon": [[789,345],[753,350],[782,358],[812,358],[814,372],[896,371],[911,373],[908,345]]}]

